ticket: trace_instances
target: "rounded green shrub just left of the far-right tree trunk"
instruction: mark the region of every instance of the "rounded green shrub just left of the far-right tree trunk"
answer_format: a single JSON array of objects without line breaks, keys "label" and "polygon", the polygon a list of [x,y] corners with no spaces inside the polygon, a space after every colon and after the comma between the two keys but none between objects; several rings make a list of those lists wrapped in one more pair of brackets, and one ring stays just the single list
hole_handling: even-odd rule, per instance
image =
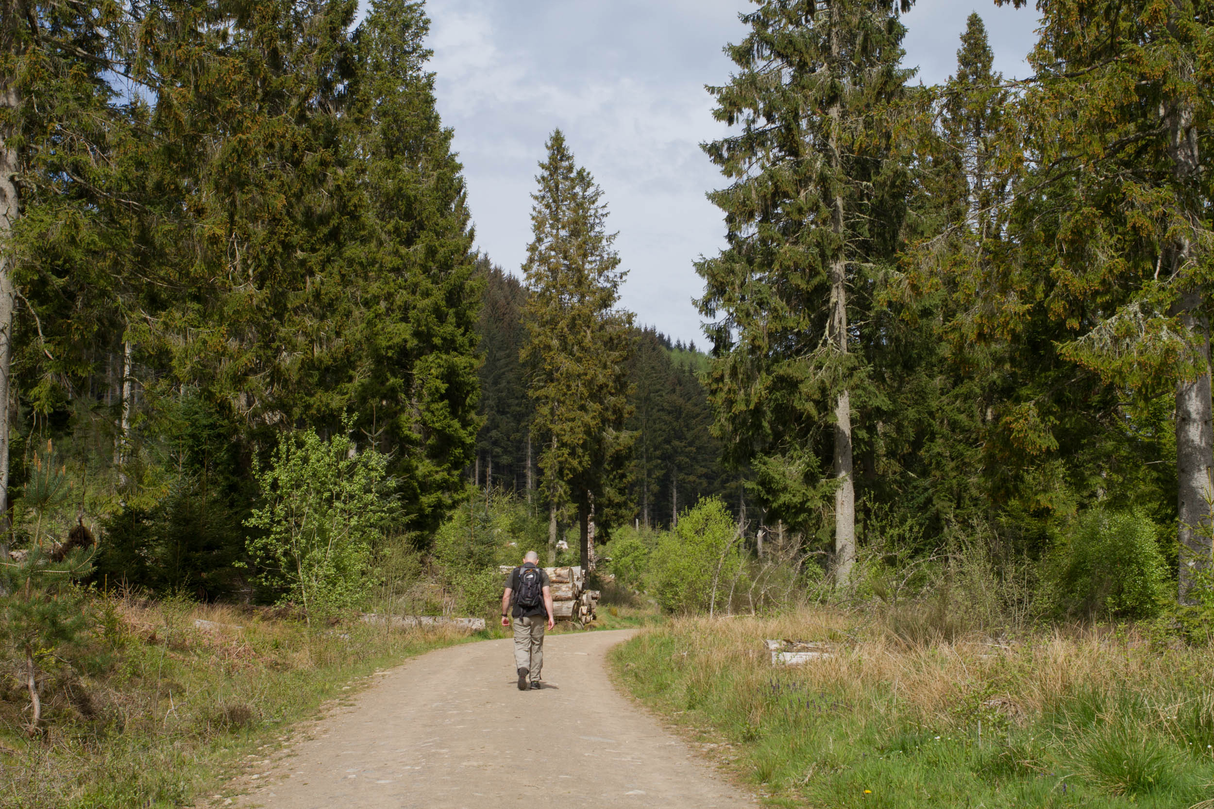
[{"label": "rounded green shrub just left of the far-right tree trunk", "polygon": [[1046,563],[1046,586],[1062,613],[1157,615],[1168,598],[1168,574],[1155,523],[1139,512],[1082,513]]}]

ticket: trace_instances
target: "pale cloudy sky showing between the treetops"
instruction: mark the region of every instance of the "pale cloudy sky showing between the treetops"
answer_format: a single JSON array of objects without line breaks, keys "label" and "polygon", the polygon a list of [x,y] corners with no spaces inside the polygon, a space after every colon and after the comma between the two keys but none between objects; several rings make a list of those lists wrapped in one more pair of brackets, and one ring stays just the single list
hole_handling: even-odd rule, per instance
[{"label": "pale cloudy sky showing between the treetops", "polygon": [[[747,0],[430,0],[438,110],[455,129],[477,247],[520,273],[544,141],[561,127],[602,186],[637,323],[703,344],[692,262],[724,245],[722,184],[699,144],[724,127],[704,85],[728,80]],[[957,63],[965,18],[987,24],[995,68],[1028,74],[1036,12],[993,0],[919,0],[908,65],[932,84]]]}]

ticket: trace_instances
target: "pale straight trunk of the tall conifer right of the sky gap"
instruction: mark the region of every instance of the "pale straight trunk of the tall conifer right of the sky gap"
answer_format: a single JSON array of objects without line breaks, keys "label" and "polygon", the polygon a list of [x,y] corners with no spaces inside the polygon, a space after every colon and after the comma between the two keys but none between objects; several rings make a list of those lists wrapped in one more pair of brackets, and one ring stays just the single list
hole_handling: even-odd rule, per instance
[{"label": "pale straight trunk of the tall conifer right of the sky gap", "polygon": [[[830,57],[833,68],[839,63],[839,4],[830,4]],[[830,108],[830,163],[834,171],[834,187],[838,188],[843,177],[843,159],[840,156],[839,129],[843,110],[835,102]],[[840,355],[847,353],[847,256],[844,221],[844,200],[838,192],[832,205],[830,229],[835,234],[838,251],[830,264],[830,320],[828,335],[830,344]],[[851,566],[856,560],[856,490],[852,483],[851,457],[851,395],[840,391],[835,399],[834,429],[834,475],[835,488],[835,569],[836,585],[847,583]]]}]

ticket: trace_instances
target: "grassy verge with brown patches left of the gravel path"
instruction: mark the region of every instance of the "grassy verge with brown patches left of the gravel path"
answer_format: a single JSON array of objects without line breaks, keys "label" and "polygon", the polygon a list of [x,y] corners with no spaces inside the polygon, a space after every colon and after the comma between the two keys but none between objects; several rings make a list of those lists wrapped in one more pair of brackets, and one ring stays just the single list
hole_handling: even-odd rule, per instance
[{"label": "grassy verge with brown patches left of the gravel path", "polygon": [[44,661],[39,737],[23,731],[27,691],[5,678],[0,807],[185,805],[222,791],[242,758],[359,677],[466,639],[357,620],[310,629],[274,611],[183,602],[89,609],[89,645]]}]

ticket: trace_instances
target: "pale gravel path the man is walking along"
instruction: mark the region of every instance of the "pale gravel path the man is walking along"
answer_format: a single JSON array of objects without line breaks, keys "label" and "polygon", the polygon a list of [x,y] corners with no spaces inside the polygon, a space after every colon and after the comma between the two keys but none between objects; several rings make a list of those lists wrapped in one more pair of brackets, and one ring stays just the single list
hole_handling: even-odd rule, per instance
[{"label": "pale gravel path the man is walking along", "polygon": [[549,636],[544,688],[516,688],[510,640],[441,649],[318,724],[239,807],[574,809],[753,807],[615,691],[606,653],[630,632]]}]

